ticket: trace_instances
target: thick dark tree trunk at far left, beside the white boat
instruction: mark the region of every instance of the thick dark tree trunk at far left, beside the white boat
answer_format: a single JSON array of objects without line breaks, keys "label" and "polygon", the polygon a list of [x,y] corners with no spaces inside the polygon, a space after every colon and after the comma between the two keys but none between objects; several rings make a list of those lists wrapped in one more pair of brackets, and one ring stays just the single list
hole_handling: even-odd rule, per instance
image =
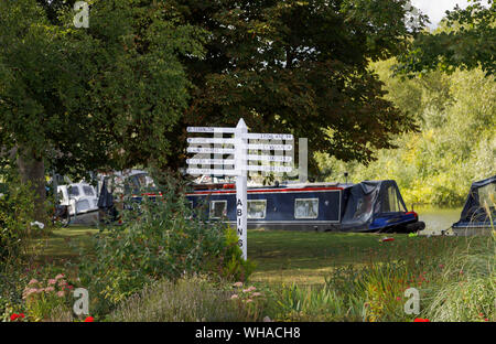
[{"label": "thick dark tree trunk at far left, beside the white boat", "polygon": [[19,149],[18,168],[21,183],[31,185],[34,191],[34,219],[46,224],[47,214],[45,209],[45,164],[43,157],[29,149]]}]

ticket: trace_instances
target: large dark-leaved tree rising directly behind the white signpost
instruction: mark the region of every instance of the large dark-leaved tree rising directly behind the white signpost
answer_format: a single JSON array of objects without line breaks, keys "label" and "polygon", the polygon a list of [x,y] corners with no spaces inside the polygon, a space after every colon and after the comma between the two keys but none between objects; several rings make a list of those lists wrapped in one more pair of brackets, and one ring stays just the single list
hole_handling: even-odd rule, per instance
[{"label": "large dark-leaved tree rising directly behind the white signpost", "polygon": [[234,126],[242,117],[251,130],[290,131],[309,138],[312,150],[359,161],[414,129],[367,68],[416,34],[405,20],[407,1],[168,3],[182,23],[211,33],[205,58],[182,58],[195,87],[176,130],[177,166],[187,125]]}]

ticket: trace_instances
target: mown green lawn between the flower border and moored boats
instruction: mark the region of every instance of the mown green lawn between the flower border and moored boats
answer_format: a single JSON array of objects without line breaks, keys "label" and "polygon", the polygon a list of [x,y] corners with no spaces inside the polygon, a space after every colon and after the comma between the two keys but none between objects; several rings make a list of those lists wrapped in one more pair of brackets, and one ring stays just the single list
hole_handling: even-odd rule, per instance
[{"label": "mown green lawn between the flower border and moored boats", "polygon": [[[72,245],[85,245],[98,229],[69,227],[55,230],[47,239],[36,239],[40,261],[76,259]],[[248,230],[248,259],[257,264],[254,282],[315,284],[324,282],[332,269],[344,265],[365,265],[370,260],[429,257],[466,243],[460,237],[414,237],[388,235],[393,241],[380,243],[381,234],[338,234],[290,230]],[[479,238],[472,238],[477,241]],[[483,239],[483,238],[481,238]]]}]

